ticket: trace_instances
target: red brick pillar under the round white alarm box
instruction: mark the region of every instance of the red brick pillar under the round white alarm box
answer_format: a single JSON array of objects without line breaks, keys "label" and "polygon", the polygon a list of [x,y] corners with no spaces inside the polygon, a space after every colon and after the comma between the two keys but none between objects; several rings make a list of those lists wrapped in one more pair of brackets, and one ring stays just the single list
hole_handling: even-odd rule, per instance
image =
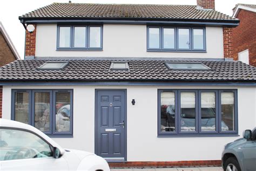
[{"label": "red brick pillar under the round white alarm box", "polygon": [[26,51],[25,56],[34,56],[36,54],[36,24],[33,24],[35,26],[35,30],[30,33],[28,30],[26,30]]}]

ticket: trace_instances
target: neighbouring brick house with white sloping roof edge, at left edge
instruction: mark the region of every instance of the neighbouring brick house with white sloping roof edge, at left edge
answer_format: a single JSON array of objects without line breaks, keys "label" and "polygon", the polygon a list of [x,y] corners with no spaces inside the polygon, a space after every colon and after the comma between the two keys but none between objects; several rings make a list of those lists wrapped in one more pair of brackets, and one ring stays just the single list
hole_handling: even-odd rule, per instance
[{"label": "neighbouring brick house with white sloping roof edge, at left edge", "polygon": [[11,63],[17,59],[21,59],[14,44],[11,42],[8,33],[0,22],[0,67]]}]

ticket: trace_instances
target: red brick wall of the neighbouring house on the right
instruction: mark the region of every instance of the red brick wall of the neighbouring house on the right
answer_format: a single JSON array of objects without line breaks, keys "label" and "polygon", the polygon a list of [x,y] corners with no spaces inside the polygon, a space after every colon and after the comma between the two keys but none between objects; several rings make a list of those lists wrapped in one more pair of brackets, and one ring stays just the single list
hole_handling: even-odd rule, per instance
[{"label": "red brick wall of the neighbouring house on the right", "polygon": [[238,53],[249,50],[249,64],[256,66],[256,13],[240,9],[237,18],[240,24],[233,29],[233,58],[238,60]]}]

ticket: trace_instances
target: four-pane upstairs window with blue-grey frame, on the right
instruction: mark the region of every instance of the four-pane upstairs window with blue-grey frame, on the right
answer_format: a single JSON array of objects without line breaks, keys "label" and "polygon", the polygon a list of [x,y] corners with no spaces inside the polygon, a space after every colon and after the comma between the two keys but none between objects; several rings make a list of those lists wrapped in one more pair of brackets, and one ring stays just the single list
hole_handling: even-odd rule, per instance
[{"label": "four-pane upstairs window with blue-grey frame, on the right", "polygon": [[147,27],[147,51],[206,51],[205,28]]}]

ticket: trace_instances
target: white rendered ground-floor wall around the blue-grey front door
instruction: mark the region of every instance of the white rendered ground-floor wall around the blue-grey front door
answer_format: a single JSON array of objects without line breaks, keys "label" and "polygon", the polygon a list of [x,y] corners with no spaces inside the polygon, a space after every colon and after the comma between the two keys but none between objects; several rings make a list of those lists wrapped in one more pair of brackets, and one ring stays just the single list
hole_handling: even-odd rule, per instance
[{"label": "white rendered ground-floor wall around the blue-grey front door", "polygon": [[[3,118],[11,118],[11,88],[3,87]],[[49,86],[33,86],[49,88]],[[65,148],[95,151],[95,89],[127,89],[127,160],[128,161],[186,161],[220,160],[226,143],[241,138],[245,129],[256,124],[255,87],[234,86],[51,86],[73,88],[73,138],[53,138]],[[237,88],[238,127],[235,137],[157,138],[158,88]],[[135,99],[133,106],[131,100]]]}]

